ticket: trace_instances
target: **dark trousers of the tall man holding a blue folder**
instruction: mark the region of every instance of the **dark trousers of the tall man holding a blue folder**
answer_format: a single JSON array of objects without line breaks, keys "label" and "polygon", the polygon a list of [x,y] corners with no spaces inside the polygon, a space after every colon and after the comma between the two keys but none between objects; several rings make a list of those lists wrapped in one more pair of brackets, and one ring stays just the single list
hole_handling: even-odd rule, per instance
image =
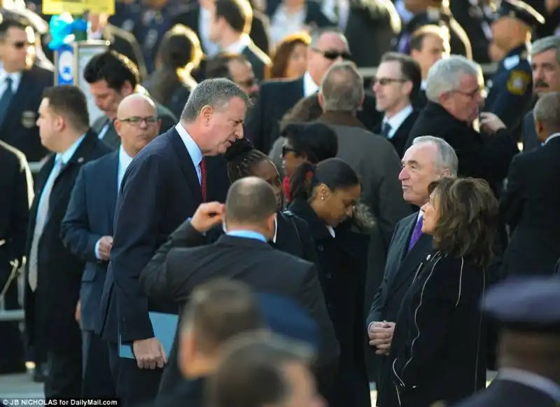
[{"label": "dark trousers of the tall man holding a blue folder", "polygon": [[160,387],[163,369],[141,369],[135,359],[118,356],[118,345],[109,343],[109,366],[120,407],[150,403]]}]

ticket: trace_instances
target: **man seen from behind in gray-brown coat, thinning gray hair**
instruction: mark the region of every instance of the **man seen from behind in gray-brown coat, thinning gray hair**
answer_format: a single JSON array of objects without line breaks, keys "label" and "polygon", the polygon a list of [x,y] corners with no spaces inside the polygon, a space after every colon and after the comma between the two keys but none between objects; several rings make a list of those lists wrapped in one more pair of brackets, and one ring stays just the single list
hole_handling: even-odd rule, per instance
[{"label": "man seen from behind in gray-brown coat, thinning gray hair", "polygon": [[323,78],[318,121],[335,130],[337,157],[353,167],[362,180],[362,200],[377,219],[384,251],[397,222],[410,213],[398,182],[400,160],[391,142],[373,134],[356,118],[364,99],[363,78],[351,62],[332,65]]}]

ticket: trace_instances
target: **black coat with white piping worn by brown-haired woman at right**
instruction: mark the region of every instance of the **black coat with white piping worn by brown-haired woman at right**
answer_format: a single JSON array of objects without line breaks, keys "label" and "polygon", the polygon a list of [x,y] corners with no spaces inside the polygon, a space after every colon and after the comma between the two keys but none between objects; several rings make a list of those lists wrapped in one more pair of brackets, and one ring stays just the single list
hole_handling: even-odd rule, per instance
[{"label": "black coat with white piping worn by brown-haired woman at right", "polygon": [[[479,303],[487,272],[468,258],[433,250],[414,274],[395,321],[392,368],[381,376],[393,381],[401,406],[459,401],[486,385]],[[379,399],[385,396],[384,386]]]}]

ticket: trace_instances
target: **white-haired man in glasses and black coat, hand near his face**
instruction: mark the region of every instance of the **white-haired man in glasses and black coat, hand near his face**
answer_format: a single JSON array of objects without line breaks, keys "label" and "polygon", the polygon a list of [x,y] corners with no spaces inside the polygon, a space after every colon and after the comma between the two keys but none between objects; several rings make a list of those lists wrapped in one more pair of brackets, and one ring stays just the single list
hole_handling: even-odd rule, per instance
[{"label": "white-haired man in glasses and black coat, hand near his face", "polygon": [[426,79],[428,104],[412,127],[407,145],[424,134],[441,137],[458,156],[458,175],[482,178],[497,191],[519,151],[510,132],[493,113],[481,113],[481,134],[473,128],[484,102],[479,67],[452,55],[436,62]]}]

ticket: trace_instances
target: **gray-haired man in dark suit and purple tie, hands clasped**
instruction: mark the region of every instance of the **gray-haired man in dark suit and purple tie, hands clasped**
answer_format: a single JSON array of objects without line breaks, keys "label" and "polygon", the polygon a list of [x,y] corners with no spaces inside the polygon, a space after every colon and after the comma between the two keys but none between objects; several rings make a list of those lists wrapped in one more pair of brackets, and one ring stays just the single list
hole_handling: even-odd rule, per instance
[{"label": "gray-haired man in dark suit and purple tie, hands clasped", "polygon": [[[454,149],[443,139],[417,137],[402,157],[399,179],[403,198],[411,205],[422,207],[430,198],[428,185],[442,177],[456,177],[457,166]],[[432,238],[421,232],[422,221],[422,212],[414,212],[397,223],[393,233],[383,282],[367,317],[367,333],[376,354],[388,352],[402,299],[412,284],[416,268],[432,249]],[[379,359],[376,386],[380,407],[398,406],[387,360]]]}]

